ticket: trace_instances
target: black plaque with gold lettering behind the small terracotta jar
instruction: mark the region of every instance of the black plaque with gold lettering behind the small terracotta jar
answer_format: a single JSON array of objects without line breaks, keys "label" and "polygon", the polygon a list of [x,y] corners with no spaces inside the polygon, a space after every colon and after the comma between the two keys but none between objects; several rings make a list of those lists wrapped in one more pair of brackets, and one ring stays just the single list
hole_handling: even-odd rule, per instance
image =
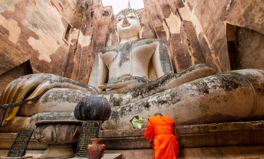
[{"label": "black plaque with gold lettering behind the small terracotta jar", "polygon": [[87,158],[86,147],[92,144],[91,139],[98,138],[102,121],[83,123],[75,157]]}]

